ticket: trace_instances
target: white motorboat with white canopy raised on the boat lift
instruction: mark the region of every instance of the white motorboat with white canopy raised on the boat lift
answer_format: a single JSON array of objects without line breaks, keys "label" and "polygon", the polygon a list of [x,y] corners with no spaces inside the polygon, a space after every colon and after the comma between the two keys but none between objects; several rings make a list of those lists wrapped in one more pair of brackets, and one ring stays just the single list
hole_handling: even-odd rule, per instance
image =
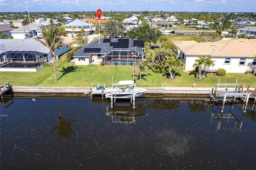
[{"label": "white motorboat with white canopy raised on the boat lift", "polygon": [[145,93],[147,89],[136,87],[134,81],[132,80],[123,80],[118,81],[118,83],[112,83],[112,88],[105,88],[105,97],[111,98],[111,94],[113,98],[116,99],[131,99],[134,97],[138,97]]}]

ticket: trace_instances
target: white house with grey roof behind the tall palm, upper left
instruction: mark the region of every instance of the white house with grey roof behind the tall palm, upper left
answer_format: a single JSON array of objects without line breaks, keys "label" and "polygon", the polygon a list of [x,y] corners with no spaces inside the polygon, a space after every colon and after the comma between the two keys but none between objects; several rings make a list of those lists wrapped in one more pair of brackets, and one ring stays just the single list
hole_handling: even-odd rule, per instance
[{"label": "white house with grey roof behind the tall palm, upper left", "polygon": [[22,26],[16,28],[15,30],[10,31],[14,39],[25,39],[28,37],[42,37],[41,26],[48,26],[49,23],[46,23],[44,19],[39,18],[33,24]]}]

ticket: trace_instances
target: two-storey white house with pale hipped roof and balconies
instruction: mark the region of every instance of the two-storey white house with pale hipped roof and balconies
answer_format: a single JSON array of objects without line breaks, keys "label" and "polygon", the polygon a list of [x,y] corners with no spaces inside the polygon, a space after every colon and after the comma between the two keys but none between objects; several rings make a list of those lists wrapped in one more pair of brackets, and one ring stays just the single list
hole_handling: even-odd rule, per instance
[{"label": "two-storey white house with pale hipped roof and balconies", "polygon": [[68,32],[68,36],[76,36],[77,31],[81,31],[82,29],[85,31],[84,35],[90,35],[95,33],[95,25],[88,24],[85,20],[72,20],[67,23],[65,26],[65,31]]}]

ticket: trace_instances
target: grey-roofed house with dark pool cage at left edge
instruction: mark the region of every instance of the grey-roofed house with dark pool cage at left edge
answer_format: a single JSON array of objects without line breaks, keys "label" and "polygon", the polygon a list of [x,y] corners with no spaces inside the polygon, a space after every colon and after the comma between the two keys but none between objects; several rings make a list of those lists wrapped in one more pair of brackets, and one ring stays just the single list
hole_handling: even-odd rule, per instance
[{"label": "grey-roofed house with dark pool cage at left edge", "polygon": [[[44,41],[43,39],[40,39]],[[50,49],[40,40],[1,39],[0,41],[0,71],[28,71],[36,72],[52,59]],[[63,41],[68,44],[69,42]],[[56,49],[56,56],[69,51],[68,45]],[[58,58],[58,57],[57,57]]]}]

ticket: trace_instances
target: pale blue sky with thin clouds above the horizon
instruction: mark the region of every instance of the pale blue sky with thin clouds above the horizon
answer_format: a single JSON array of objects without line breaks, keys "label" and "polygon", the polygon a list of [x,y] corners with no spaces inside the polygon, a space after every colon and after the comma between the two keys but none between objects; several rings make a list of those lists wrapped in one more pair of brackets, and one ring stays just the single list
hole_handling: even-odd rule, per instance
[{"label": "pale blue sky with thin clouds above the horizon", "polygon": [[0,0],[0,12],[256,12],[256,0]]}]

